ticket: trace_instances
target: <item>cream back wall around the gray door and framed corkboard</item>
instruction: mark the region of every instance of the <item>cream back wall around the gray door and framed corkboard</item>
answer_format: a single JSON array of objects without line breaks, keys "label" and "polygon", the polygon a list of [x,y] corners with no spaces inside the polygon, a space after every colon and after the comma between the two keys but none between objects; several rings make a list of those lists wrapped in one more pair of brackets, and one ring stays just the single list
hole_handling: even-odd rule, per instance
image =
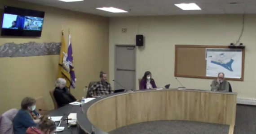
[{"label": "cream back wall around the gray door and framed corkboard", "polygon": [[[238,97],[256,98],[256,15],[246,15],[241,42],[246,46],[244,81],[230,81]],[[121,33],[127,28],[127,33]],[[242,29],[242,15],[191,15],[110,18],[110,80],[114,79],[115,44],[135,44],[143,34],[145,43],[137,48],[136,82],[151,71],[157,86],[180,84],[174,77],[175,44],[229,45],[236,42]],[[187,55],[189,56],[189,55]],[[187,88],[210,90],[212,80],[179,78]],[[113,84],[113,83],[112,83]],[[136,83],[137,89],[138,82]]]}]

